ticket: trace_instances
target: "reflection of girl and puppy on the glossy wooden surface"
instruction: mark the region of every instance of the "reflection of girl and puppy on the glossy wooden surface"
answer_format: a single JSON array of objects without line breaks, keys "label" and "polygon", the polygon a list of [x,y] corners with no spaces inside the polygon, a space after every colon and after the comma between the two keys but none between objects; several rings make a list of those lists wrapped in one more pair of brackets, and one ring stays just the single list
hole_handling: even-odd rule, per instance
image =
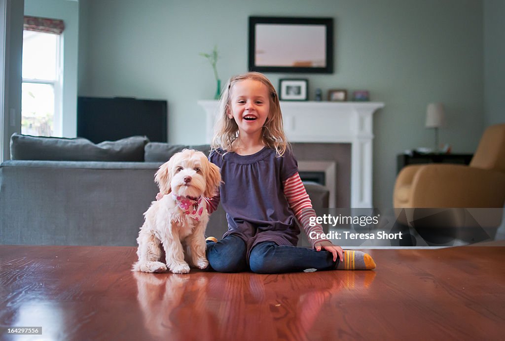
[{"label": "reflection of girl and puppy on the glossy wooden surface", "polygon": [[255,338],[266,330],[306,338],[345,291],[366,293],[375,271],[133,276],[145,329],[154,338]]}]

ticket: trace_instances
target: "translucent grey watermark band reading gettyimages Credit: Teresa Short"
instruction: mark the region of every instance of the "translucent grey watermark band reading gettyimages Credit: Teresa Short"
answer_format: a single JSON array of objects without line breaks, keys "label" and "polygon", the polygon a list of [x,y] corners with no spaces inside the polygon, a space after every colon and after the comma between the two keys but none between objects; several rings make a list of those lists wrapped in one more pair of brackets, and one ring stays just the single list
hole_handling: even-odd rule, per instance
[{"label": "translucent grey watermark band reading gettyimages Credit: Teresa Short", "polygon": [[309,238],[342,246],[459,246],[494,240],[502,208],[316,208]]}]

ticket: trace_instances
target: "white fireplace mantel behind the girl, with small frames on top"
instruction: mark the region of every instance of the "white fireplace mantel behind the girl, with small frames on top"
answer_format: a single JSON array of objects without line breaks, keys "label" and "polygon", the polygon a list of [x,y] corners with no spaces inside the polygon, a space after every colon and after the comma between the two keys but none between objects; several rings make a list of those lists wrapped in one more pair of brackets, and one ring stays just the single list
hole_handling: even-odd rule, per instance
[{"label": "white fireplace mantel behind the girl, with small frames on top", "polygon": [[[218,109],[215,100],[200,100],[207,115],[206,141],[210,143]],[[373,113],[382,102],[281,101],[284,132],[289,142],[351,144],[352,208],[371,208],[373,168]]]}]

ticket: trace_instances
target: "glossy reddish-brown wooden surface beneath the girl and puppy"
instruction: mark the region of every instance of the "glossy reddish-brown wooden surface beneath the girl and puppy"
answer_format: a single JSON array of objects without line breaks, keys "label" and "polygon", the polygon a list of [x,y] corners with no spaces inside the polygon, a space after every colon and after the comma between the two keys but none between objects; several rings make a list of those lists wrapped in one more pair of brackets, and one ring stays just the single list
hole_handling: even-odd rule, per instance
[{"label": "glossy reddish-brown wooden surface beneath the girl and puppy", "polygon": [[374,271],[177,275],[130,272],[132,247],[0,246],[2,337],[14,326],[64,340],[505,337],[505,247],[370,254]]}]

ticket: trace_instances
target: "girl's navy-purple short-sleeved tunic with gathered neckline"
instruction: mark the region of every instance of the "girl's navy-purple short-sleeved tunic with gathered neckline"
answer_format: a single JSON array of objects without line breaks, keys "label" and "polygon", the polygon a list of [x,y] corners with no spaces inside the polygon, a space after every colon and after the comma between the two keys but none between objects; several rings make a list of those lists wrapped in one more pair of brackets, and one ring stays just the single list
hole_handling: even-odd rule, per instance
[{"label": "girl's navy-purple short-sleeved tunic with gathered neckline", "polygon": [[[224,184],[221,204],[228,220],[228,232],[247,244],[247,255],[256,244],[272,241],[296,246],[300,230],[284,196],[284,181],[298,172],[289,149],[282,157],[264,147],[252,155],[212,151],[211,162],[221,168]],[[249,258],[249,257],[247,257]]]}]

